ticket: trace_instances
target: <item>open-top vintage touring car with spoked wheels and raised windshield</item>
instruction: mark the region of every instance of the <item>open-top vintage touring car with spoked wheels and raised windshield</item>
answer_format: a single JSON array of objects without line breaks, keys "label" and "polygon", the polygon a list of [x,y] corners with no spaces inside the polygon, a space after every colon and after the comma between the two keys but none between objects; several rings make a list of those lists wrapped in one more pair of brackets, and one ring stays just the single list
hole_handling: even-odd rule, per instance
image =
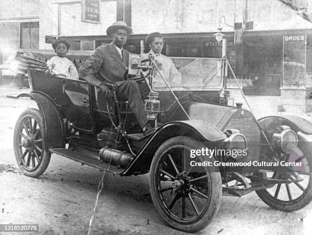
[{"label": "open-top vintage touring car with spoked wheels and raised windshield", "polygon": [[[312,200],[312,124],[298,116],[256,120],[251,111],[227,105],[226,58],[175,58],[182,74],[178,86],[153,85],[157,66],[151,56],[149,64],[135,65],[147,74],[128,79],[150,86],[145,109],[155,124],[144,135],[113,85],[107,84],[114,97],[105,100],[86,81],[46,74],[45,63],[32,57],[16,57],[32,88],[19,97],[38,105],[23,111],[14,129],[23,174],[39,177],[52,153],[120,176],[149,172],[156,209],[169,226],[188,232],[216,217],[222,195],[255,191],[266,204],[286,212]],[[208,149],[224,151],[209,155]],[[247,155],[225,154],[235,149]]]}]

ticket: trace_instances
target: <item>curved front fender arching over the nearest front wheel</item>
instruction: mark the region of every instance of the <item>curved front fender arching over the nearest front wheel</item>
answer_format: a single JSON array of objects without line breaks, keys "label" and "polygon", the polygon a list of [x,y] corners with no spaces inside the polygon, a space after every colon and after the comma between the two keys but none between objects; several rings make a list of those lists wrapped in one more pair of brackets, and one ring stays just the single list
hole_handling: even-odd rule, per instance
[{"label": "curved front fender arching over the nearest front wheel", "polygon": [[190,136],[202,142],[218,142],[226,135],[217,127],[202,120],[169,122],[157,129],[138,152],[131,164],[121,175],[147,173],[154,153],[169,138],[175,136]]}]

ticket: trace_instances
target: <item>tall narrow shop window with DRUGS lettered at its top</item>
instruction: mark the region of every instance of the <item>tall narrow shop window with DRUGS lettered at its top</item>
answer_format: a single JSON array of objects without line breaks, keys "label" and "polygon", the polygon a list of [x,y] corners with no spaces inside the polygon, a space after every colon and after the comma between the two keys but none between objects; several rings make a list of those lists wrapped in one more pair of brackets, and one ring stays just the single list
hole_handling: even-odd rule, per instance
[{"label": "tall narrow shop window with DRUGS lettered at its top", "polygon": [[284,35],[283,48],[283,87],[304,87],[306,35]]}]

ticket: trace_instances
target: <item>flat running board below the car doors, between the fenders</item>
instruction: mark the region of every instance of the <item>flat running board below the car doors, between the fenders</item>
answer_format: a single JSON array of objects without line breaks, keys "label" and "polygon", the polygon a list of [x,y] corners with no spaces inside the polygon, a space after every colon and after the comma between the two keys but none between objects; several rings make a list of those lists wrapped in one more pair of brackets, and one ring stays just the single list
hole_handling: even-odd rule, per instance
[{"label": "flat running board below the car doors, between the fenders", "polygon": [[50,152],[67,157],[71,160],[81,162],[82,165],[86,164],[91,167],[106,170],[113,174],[120,174],[124,171],[122,168],[118,168],[114,165],[110,165],[107,162],[102,162],[98,159],[98,151],[91,150],[87,147],[77,146],[74,149],[55,148],[49,149]]}]

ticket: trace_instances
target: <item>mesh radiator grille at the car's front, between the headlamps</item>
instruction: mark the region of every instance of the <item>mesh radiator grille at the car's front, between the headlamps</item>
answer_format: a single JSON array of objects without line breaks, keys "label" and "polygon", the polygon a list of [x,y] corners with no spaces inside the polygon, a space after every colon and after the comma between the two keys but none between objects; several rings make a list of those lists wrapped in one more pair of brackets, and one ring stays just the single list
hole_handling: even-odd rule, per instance
[{"label": "mesh radiator grille at the car's front, between the headlamps", "polygon": [[238,129],[247,143],[260,143],[261,131],[252,117],[234,117],[224,129]]}]

